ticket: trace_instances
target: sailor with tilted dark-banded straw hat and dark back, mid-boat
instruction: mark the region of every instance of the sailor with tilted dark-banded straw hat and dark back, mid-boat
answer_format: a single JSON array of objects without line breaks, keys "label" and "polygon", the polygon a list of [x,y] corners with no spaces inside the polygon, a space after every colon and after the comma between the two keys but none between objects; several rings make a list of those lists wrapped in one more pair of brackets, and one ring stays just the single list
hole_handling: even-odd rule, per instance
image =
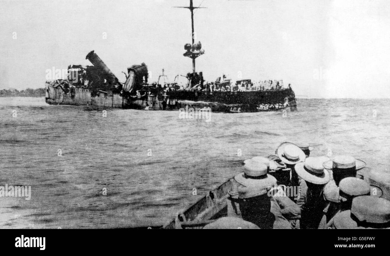
[{"label": "sailor with tilted dark-banded straw hat and dark back, mid-boat", "polygon": [[316,229],[323,217],[326,203],[323,189],[330,180],[329,172],[323,167],[323,159],[308,157],[295,166],[295,171],[307,184],[306,200],[302,206],[300,228]]}]

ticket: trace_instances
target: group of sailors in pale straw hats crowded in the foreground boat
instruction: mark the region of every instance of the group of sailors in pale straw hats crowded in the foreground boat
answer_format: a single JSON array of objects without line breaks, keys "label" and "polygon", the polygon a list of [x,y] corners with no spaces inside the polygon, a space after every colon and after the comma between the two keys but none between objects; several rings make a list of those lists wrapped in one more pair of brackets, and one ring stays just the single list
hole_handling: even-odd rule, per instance
[{"label": "group of sailors in pale straw hats crowded in the foreground boat", "polygon": [[388,194],[367,181],[382,174],[353,156],[310,156],[312,149],[284,142],[276,155],[245,160],[231,181],[228,216],[204,228],[390,229]]}]

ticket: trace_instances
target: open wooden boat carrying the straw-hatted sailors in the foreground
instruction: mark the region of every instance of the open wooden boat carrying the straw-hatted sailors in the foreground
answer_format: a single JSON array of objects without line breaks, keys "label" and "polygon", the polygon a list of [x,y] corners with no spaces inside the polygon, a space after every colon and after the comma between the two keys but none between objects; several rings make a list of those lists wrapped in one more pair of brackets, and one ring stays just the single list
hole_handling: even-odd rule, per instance
[{"label": "open wooden boat carrying the straw-hatted sailors in the foreground", "polygon": [[[381,197],[390,200],[390,177],[383,172],[369,172],[368,168],[358,171],[358,178],[381,190]],[[177,213],[174,219],[163,226],[164,229],[201,229],[205,225],[228,216],[229,192],[238,183],[233,178],[209,191],[188,208]],[[278,189],[282,189],[278,187]],[[378,194],[379,195],[379,194]]]}]

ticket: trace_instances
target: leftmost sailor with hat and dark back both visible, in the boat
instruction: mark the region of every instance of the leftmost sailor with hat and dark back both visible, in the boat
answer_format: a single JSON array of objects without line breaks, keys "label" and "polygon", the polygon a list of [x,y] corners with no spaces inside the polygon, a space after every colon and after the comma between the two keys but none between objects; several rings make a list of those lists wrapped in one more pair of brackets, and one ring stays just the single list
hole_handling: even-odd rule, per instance
[{"label": "leftmost sailor with hat and dark back both visible, in the boat", "polygon": [[234,177],[238,187],[230,192],[229,197],[234,206],[238,204],[242,219],[262,229],[291,229],[278,203],[268,196],[268,190],[276,185],[276,179],[267,174],[267,166],[249,161],[244,169]]}]

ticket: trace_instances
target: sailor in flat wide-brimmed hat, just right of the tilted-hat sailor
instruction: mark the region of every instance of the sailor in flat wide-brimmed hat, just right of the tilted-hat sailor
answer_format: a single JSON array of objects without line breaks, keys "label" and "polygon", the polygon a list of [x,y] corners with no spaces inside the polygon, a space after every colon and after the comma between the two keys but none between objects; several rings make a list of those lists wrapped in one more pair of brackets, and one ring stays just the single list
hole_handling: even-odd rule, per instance
[{"label": "sailor in flat wide-brimmed hat, just right of the tilted-hat sailor", "polygon": [[324,187],[324,199],[328,205],[324,209],[326,219],[322,223],[327,223],[340,210],[339,183],[344,178],[356,177],[357,171],[365,167],[365,162],[341,155],[324,162],[323,166],[330,174],[330,181]]}]

